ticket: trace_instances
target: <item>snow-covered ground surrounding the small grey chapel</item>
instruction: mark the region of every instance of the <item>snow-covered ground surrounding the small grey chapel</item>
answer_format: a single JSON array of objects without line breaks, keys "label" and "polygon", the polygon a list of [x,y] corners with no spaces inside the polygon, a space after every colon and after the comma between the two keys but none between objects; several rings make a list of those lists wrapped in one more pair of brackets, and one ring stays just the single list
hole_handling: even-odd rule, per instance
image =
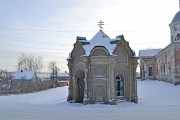
[{"label": "snow-covered ground surrounding the small grey chapel", "polygon": [[67,103],[68,88],[0,96],[0,120],[180,120],[180,85],[139,81],[139,103]]}]

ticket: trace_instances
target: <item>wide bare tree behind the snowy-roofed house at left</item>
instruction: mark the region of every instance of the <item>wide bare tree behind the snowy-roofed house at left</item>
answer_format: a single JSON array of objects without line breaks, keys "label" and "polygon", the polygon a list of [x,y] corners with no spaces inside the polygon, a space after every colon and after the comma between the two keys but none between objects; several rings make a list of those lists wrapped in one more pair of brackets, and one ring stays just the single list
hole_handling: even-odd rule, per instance
[{"label": "wide bare tree behind the snowy-roofed house at left", "polygon": [[42,69],[42,57],[34,57],[32,55],[22,54],[18,58],[18,70],[34,70],[41,71]]}]

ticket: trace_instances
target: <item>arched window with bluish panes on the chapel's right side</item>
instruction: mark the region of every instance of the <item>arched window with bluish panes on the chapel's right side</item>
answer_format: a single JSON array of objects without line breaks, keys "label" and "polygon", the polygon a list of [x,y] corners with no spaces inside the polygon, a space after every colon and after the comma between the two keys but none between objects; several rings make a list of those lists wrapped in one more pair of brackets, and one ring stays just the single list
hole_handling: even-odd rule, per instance
[{"label": "arched window with bluish panes on the chapel's right side", "polygon": [[122,75],[116,76],[116,97],[124,97],[124,77]]}]

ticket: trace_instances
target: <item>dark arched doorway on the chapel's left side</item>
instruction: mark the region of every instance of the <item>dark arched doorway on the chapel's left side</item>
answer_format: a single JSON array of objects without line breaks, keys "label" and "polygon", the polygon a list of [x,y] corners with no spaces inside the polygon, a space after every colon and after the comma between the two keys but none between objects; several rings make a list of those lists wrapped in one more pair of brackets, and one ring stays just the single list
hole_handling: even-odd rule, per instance
[{"label": "dark arched doorway on the chapel's left side", "polygon": [[83,103],[84,98],[84,78],[85,73],[82,70],[79,70],[76,74],[76,102]]}]

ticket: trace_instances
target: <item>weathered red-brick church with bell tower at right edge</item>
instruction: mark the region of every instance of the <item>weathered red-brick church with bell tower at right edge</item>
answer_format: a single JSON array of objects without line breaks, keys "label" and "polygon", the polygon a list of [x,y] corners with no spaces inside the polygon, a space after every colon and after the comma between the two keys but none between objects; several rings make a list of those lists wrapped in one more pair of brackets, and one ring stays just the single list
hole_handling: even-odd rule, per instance
[{"label": "weathered red-brick church with bell tower at right edge", "polygon": [[180,84],[180,11],[176,13],[169,27],[171,39],[168,46],[164,49],[139,51],[142,79]]}]

